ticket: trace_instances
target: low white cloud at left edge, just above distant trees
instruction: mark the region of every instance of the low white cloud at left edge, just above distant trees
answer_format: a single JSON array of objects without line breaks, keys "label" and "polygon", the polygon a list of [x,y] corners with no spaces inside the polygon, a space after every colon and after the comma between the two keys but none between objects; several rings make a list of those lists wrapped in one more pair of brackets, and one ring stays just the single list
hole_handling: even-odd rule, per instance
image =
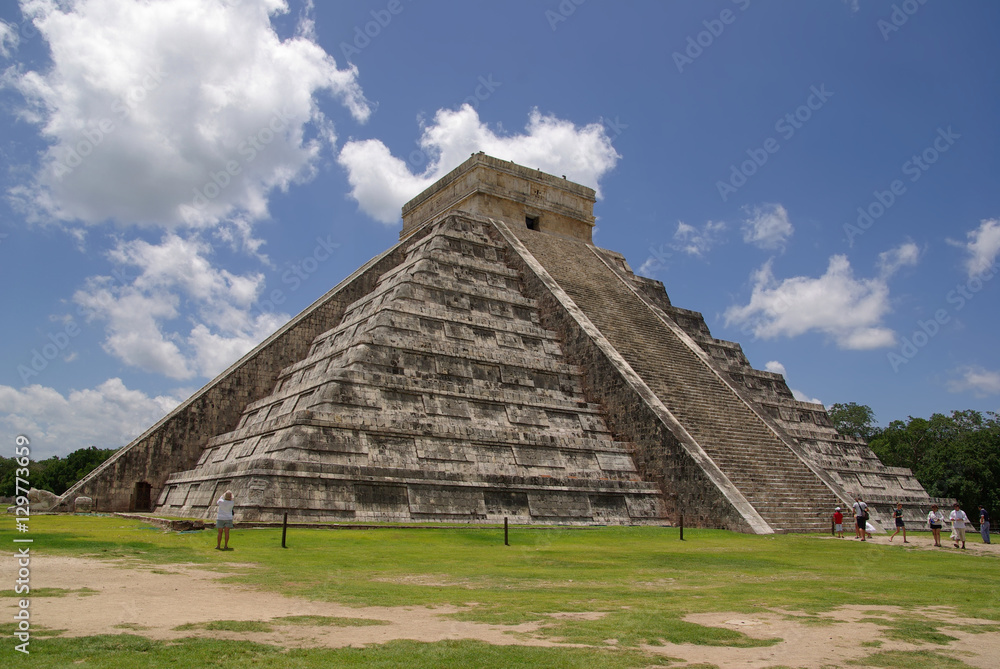
[{"label": "low white cloud at left edge, just above distant trees", "polygon": [[65,396],[46,386],[0,385],[0,427],[11,435],[10,443],[15,434],[27,436],[32,458],[42,460],[89,446],[124,446],[179,402],[130,390],[118,378]]}]

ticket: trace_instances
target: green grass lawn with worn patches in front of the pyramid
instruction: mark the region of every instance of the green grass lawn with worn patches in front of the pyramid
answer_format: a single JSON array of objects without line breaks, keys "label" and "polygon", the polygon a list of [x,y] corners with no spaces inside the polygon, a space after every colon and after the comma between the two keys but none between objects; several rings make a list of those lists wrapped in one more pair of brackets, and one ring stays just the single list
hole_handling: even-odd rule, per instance
[{"label": "green grass lawn with worn patches in front of the pyramid", "polygon": [[[644,653],[640,646],[647,644],[776,642],[682,620],[691,613],[780,607],[816,614],[845,604],[893,605],[908,613],[878,616],[888,638],[940,644],[953,638],[949,627],[922,616],[925,607],[947,606],[958,615],[1000,621],[1000,559],[993,555],[811,535],[688,528],[682,542],[672,528],[517,527],[511,528],[511,545],[504,546],[502,528],[291,529],[289,548],[282,549],[280,529],[237,528],[230,541],[235,550],[221,552],[214,550],[214,531],[179,534],[116,517],[38,516],[31,520],[31,536],[34,555],[198,563],[228,573],[228,582],[358,606],[450,604],[463,607],[453,614],[463,620],[546,621],[536,635],[593,648],[394,641],[364,649],[286,650],[204,638],[157,642],[122,629],[82,640],[39,639],[25,666],[27,661],[38,667],[70,666],[84,658],[74,666],[645,667],[670,663]],[[13,545],[13,538],[7,528],[0,531],[6,545]],[[237,569],[232,562],[254,567]],[[605,615],[595,620],[549,615],[567,612]],[[609,639],[616,640],[615,648],[608,648]],[[10,655],[7,648],[2,653]],[[881,662],[877,666],[897,666],[892,662],[901,657],[887,651],[873,660]]]}]

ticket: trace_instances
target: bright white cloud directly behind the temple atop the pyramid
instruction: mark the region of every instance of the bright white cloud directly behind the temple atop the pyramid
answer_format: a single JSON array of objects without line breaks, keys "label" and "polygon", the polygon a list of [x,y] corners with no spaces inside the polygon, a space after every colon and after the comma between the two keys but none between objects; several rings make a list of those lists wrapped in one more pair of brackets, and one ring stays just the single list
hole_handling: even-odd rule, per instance
[{"label": "bright white cloud directly behind the temple atop the pyramid", "polygon": [[479,120],[470,105],[439,109],[424,127],[420,151],[413,162],[427,167],[414,174],[377,139],[351,141],[338,158],[347,170],[353,197],[361,211],[386,224],[399,221],[400,209],[450,170],[483,151],[496,158],[538,168],[598,190],[599,181],[618,162],[619,155],[600,123],[577,127],[537,109],[528,116],[525,132],[502,135]]}]

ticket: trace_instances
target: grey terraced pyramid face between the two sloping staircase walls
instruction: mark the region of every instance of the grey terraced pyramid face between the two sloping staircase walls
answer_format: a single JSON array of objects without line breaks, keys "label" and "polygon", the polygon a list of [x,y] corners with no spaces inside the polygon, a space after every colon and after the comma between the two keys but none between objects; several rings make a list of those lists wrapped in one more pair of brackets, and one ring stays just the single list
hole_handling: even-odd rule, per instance
[{"label": "grey terraced pyramid face between the two sloping staircase walls", "polygon": [[482,224],[451,218],[167,481],[243,520],[634,523],[662,515]]}]

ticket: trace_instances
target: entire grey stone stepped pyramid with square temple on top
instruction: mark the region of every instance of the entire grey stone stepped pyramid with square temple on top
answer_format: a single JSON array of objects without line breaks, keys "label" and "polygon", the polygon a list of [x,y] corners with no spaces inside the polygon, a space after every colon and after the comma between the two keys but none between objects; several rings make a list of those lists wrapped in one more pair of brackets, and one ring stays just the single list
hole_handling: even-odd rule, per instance
[{"label": "entire grey stone stepped pyramid with square temple on top", "polygon": [[[908,469],[750,366],[592,244],[594,191],[475,154],[400,242],[71,488],[98,511],[237,521],[828,530]],[[847,515],[850,515],[848,512]]]}]

